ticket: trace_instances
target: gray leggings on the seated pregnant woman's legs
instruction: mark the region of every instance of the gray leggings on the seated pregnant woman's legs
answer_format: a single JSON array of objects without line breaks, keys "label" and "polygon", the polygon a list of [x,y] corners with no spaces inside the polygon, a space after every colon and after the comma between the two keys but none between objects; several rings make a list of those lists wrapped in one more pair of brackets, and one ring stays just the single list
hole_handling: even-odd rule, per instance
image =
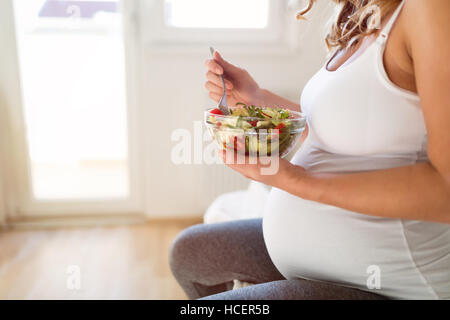
[{"label": "gray leggings on the seated pregnant woman's legs", "polygon": [[[184,230],[172,243],[170,267],[189,299],[384,299],[329,283],[286,280],[267,252],[262,219],[196,225]],[[255,285],[230,290],[235,279]]]}]

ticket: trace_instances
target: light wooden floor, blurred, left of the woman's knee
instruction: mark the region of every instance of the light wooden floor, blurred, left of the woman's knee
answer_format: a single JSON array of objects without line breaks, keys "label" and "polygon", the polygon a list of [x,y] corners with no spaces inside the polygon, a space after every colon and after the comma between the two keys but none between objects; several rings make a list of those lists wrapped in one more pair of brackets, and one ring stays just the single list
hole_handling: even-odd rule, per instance
[{"label": "light wooden floor, blurred, left of the woman's knee", "polygon": [[185,299],[168,250],[190,224],[0,233],[0,299]]}]

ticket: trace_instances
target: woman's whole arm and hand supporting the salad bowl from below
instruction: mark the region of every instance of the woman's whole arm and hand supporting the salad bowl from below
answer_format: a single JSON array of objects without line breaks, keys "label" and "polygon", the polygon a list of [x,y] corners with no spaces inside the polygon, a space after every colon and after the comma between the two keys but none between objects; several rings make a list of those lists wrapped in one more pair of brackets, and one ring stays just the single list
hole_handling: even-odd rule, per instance
[{"label": "woman's whole arm and hand supporting the salad bowl from below", "polygon": [[354,174],[311,174],[280,160],[274,176],[261,165],[230,165],[293,195],[387,218],[450,224],[450,1],[407,0],[405,32],[428,130],[429,163]]}]

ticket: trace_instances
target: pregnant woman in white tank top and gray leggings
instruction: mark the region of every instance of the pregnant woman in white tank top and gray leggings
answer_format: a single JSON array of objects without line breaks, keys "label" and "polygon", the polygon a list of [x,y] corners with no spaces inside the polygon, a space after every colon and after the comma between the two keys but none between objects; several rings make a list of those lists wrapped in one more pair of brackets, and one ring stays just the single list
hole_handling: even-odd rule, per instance
[{"label": "pregnant woman in white tank top and gray leggings", "polygon": [[[219,53],[207,61],[212,99],[224,74],[231,104],[301,110],[308,133],[275,175],[228,163],[273,189],[263,220],[176,238],[189,298],[450,299],[450,1],[334,2],[334,55],[300,105]],[[234,279],[254,285],[227,291]]]}]

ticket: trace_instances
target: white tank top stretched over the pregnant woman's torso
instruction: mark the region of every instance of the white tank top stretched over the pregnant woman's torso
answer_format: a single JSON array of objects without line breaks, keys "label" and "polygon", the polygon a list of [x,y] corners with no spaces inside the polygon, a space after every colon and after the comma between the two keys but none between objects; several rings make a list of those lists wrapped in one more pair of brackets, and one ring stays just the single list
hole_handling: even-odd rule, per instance
[{"label": "white tank top stretched over the pregnant woman's torso", "polygon": [[[383,64],[402,6],[356,60],[337,71],[326,64],[306,85],[301,106],[309,134],[294,164],[348,173],[428,161],[420,99],[393,84]],[[363,215],[273,189],[263,229],[272,260],[288,279],[391,298],[450,299],[450,225]]]}]

